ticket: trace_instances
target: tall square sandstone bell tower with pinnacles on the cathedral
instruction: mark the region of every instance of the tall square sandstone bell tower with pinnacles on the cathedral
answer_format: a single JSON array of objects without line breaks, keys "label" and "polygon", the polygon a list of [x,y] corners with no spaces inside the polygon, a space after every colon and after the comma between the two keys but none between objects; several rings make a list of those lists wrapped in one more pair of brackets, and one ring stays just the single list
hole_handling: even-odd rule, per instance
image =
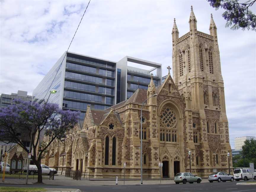
[{"label": "tall square sandstone bell tower with pinnacles on the cathedral", "polygon": [[[194,158],[204,153],[200,157],[204,168],[226,168],[223,166],[226,162],[212,163],[220,153],[231,151],[217,27],[211,14],[209,34],[198,31],[192,6],[188,23],[189,31],[182,36],[176,20],[172,28],[173,81],[186,103],[187,122],[193,124],[187,129],[188,148]],[[200,139],[195,141],[191,135],[195,138],[200,135]],[[213,138],[218,138],[218,150],[211,147]],[[197,143],[202,146],[200,150]]]}]

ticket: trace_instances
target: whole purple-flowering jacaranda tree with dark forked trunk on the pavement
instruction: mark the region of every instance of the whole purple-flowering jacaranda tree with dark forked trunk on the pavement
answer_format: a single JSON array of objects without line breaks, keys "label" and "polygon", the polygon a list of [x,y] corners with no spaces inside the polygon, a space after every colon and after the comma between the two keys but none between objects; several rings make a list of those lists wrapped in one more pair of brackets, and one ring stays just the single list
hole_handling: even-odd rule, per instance
[{"label": "whole purple-flowering jacaranda tree with dark forked trunk on the pavement", "polygon": [[[79,113],[62,110],[53,103],[16,100],[14,105],[0,108],[0,141],[17,143],[29,152],[23,140],[30,141],[32,135],[31,159],[38,169],[38,183],[42,183],[42,154],[55,139],[64,139],[76,126]],[[47,137],[46,143],[42,142],[42,135]]]}]

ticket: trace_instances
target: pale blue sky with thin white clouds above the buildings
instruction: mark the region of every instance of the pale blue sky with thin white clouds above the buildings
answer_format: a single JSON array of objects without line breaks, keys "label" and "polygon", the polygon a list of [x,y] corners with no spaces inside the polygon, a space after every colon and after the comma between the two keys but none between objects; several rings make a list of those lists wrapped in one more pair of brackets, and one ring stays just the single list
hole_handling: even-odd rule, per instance
[{"label": "pale blue sky with thin white clouds above the buildings", "polygon": [[[0,94],[33,89],[67,50],[88,1],[0,1]],[[69,51],[106,60],[124,56],[172,66],[173,19],[189,31],[190,6],[197,29],[217,25],[231,147],[235,137],[256,136],[256,36],[225,28],[222,9],[198,1],[91,0]],[[253,12],[256,12],[256,6]],[[172,74],[172,70],[171,70]]]}]

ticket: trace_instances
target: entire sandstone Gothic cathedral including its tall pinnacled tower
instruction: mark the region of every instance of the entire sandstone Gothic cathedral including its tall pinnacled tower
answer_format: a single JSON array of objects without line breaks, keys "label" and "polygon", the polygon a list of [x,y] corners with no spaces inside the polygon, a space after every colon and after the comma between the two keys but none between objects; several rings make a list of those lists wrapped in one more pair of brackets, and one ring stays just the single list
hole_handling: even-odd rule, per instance
[{"label": "entire sandstone Gothic cathedral including its tall pinnacled tower", "polygon": [[[192,7],[188,33],[179,36],[174,20],[172,77],[168,67],[159,86],[151,78],[148,90],[137,89],[117,105],[105,110],[88,106],[83,127],[73,129],[64,142],[52,143],[41,163],[57,168],[59,174],[72,169],[95,178],[122,176],[124,163],[126,177],[140,177],[141,157],[145,178],[159,178],[160,174],[173,178],[178,172],[189,172],[190,159],[195,175],[228,172],[231,147],[212,15],[209,31],[197,30]],[[159,162],[163,163],[161,172]],[[230,162],[232,167],[232,159]]]}]

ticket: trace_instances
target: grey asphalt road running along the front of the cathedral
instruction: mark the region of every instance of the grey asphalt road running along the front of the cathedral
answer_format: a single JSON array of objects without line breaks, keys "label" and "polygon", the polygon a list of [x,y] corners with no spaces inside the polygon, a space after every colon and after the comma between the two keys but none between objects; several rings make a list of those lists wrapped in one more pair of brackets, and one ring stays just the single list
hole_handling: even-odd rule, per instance
[{"label": "grey asphalt road running along the front of the cathedral", "polygon": [[[241,181],[240,181],[241,182]],[[240,183],[239,182],[239,183]],[[4,186],[15,187],[44,187],[44,188],[74,188],[83,192],[256,192],[256,185],[236,185],[237,182],[221,183],[187,183],[187,184],[169,184],[169,185],[105,185],[105,186],[88,186],[88,185],[10,185]],[[3,185],[0,185],[3,186]]]}]

